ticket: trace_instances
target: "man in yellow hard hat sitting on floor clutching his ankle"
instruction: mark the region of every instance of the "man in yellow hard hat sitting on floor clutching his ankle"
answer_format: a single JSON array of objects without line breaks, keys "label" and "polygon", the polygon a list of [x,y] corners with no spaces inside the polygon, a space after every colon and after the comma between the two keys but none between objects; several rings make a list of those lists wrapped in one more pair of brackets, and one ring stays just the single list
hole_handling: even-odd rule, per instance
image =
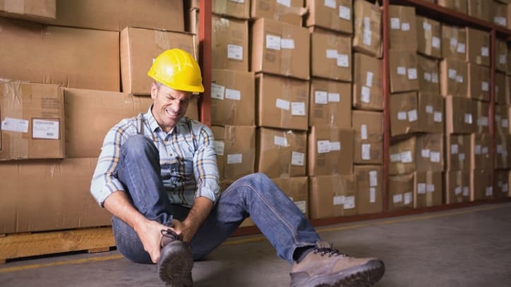
[{"label": "man in yellow hard hat sitting on floor clutching his ankle", "polygon": [[193,56],[169,49],[148,75],[153,104],[107,133],[91,193],[113,214],[117,250],[133,262],[157,263],[167,286],[192,286],[194,259],[208,255],[246,217],[293,264],[291,286],[371,286],[383,262],[333,250],[298,207],[263,173],[239,178],[222,195],[213,135],[184,117],[203,92]]}]

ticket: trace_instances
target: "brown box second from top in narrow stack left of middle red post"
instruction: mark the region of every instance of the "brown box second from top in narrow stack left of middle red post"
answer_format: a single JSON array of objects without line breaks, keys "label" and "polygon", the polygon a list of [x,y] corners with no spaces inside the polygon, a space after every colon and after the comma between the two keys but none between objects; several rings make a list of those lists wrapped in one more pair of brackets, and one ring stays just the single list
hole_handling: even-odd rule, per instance
[{"label": "brown box second from top in narrow stack left of middle red post", "polygon": [[353,107],[383,110],[382,84],[381,60],[353,53]]}]

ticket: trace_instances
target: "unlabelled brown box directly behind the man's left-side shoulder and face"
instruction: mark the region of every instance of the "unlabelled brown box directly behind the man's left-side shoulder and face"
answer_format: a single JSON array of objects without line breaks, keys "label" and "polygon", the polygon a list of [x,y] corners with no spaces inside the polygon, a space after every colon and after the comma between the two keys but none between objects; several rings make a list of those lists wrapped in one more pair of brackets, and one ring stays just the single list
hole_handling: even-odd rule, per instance
[{"label": "unlabelled brown box directly behind the man's left-side shoulder and face", "polygon": [[64,103],[66,157],[85,158],[99,157],[110,128],[124,118],[146,113],[152,99],[121,92],[66,88]]}]

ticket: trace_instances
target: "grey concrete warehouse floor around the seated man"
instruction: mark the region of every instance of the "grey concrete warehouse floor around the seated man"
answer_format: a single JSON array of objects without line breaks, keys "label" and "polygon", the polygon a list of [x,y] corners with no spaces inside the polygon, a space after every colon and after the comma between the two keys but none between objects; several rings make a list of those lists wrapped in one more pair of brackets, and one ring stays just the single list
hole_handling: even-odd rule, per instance
[{"label": "grey concrete warehouse floor around the seated man", "polygon": [[[380,257],[378,287],[510,286],[511,203],[318,228],[352,256]],[[261,236],[230,238],[193,267],[194,286],[289,286],[289,265]],[[0,286],[162,286],[155,265],[116,251],[0,265]]]}]

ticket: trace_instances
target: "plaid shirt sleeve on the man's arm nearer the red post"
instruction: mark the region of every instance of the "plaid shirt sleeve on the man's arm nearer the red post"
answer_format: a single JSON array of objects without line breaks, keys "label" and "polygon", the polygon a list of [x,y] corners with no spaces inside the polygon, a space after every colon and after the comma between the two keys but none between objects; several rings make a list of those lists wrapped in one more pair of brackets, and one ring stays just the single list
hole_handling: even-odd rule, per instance
[{"label": "plaid shirt sleeve on the man's arm nearer the red post", "polygon": [[208,126],[201,125],[198,133],[198,149],[193,156],[193,173],[195,173],[196,197],[208,197],[216,202],[220,195],[217,154],[215,138]]}]

